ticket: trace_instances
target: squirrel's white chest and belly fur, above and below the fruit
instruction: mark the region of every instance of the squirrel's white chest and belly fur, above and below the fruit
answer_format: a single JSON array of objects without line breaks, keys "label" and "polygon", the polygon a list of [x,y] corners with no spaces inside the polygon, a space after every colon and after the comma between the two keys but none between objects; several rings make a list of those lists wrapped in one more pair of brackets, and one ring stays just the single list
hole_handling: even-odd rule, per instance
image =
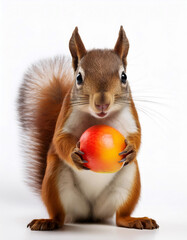
[{"label": "squirrel's white chest and belly fur, above and below the fruit", "polygon": [[[97,124],[112,126],[125,137],[137,131],[135,120],[128,108],[115,118],[105,119],[96,119],[87,113],[73,110],[63,131],[79,138],[87,128]],[[111,217],[128,198],[135,174],[136,165],[133,162],[117,173],[75,170],[62,162],[58,186],[66,216],[72,221],[90,216],[94,219]]]}]

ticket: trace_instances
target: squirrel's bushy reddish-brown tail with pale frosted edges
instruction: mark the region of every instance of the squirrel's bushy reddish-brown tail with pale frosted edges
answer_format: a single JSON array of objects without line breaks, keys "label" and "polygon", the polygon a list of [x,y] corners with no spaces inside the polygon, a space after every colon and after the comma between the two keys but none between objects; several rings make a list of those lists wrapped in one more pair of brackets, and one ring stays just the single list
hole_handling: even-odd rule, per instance
[{"label": "squirrel's bushy reddish-brown tail with pale frosted edges", "polygon": [[70,61],[56,57],[28,69],[20,87],[18,113],[27,158],[27,182],[36,192],[41,190],[47,152],[72,79]]}]

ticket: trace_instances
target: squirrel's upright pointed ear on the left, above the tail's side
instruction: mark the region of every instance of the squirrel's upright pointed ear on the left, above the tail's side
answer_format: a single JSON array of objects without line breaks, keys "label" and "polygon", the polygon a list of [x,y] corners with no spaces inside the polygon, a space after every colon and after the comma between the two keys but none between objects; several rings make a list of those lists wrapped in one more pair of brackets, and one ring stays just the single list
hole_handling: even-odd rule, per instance
[{"label": "squirrel's upright pointed ear on the left, above the tail's side", "polygon": [[69,50],[71,52],[72,56],[72,64],[74,70],[77,69],[79,60],[86,55],[86,49],[84,47],[84,44],[81,40],[81,37],[78,33],[78,27],[75,28],[75,30],[72,33],[72,36],[69,41]]}]

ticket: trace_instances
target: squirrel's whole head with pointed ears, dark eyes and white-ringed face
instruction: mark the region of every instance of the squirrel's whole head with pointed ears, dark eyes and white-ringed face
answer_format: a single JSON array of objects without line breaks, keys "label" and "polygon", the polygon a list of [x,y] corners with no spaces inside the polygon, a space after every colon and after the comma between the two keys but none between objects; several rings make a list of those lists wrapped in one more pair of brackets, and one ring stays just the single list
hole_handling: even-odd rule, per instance
[{"label": "squirrel's whole head with pointed ears, dark eyes and white-ringed face", "polygon": [[129,104],[126,76],[129,41],[121,26],[114,49],[87,51],[76,27],[69,42],[75,83],[72,104],[97,118]]}]

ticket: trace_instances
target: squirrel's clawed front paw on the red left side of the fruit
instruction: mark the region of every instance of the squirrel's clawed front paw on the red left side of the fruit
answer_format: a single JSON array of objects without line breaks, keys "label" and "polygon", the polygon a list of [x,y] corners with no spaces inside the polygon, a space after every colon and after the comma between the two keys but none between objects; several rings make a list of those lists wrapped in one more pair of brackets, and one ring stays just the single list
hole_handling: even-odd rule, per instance
[{"label": "squirrel's clawed front paw on the red left side of the fruit", "polygon": [[82,152],[79,147],[80,147],[80,142],[77,143],[76,148],[74,148],[73,152],[71,153],[71,158],[72,158],[75,166],[79,170],[81,170],[81,169],[89,170],[89,168],[87,168],[84,165],[84,163],[87,163],[88,161],[86,161],[82,158],[82,155],[84,155],[84,152]]}]

